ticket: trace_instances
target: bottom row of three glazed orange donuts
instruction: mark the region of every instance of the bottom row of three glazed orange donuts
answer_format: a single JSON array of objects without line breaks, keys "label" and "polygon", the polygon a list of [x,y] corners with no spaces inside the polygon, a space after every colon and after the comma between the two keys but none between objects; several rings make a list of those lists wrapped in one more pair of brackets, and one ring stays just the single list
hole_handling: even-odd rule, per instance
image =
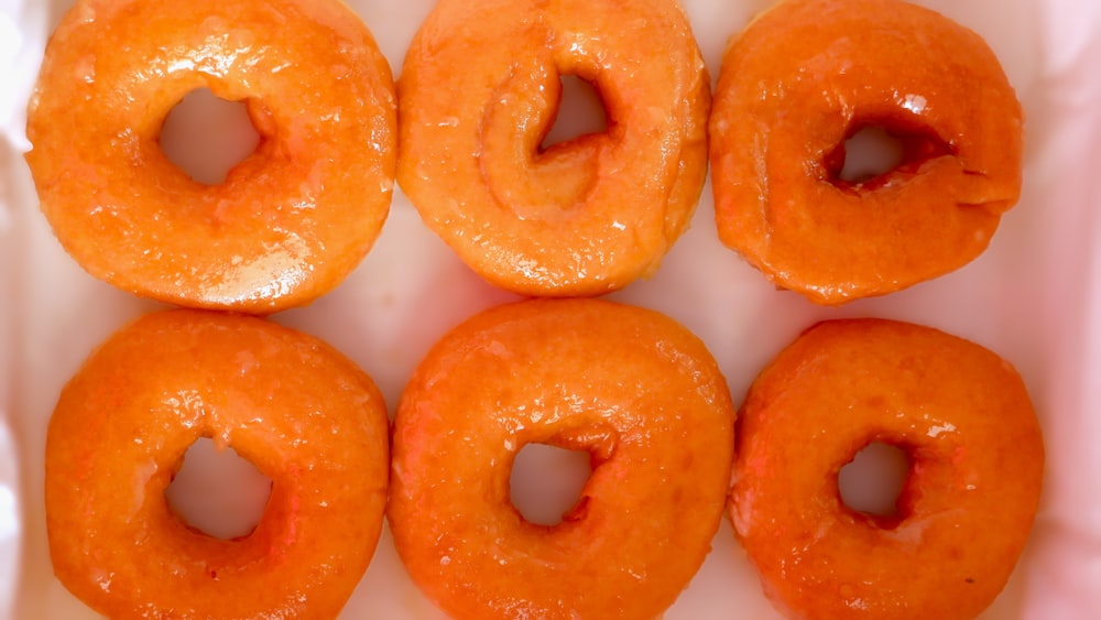
[{"label": "bottom row of three glazed orange donuts", "polygon": [[[385,512],[414,583],[453,618],[643,619],[677,599],[727,512],[792,618],[970,619],[1004,587],[1044,457],[1024,384],[996,355],[907,323],[821,323],[756,378],[737,434],[734,421],[704,342],[600,300],[468,319],[416,368],[392,429],[371,379],[316,338],[155,313],[62,392],[51,557],[110,618],[335,618]],[[273,481],[241,539],[204,535],[164,500],[204,436]],[[909,460],[894,515],[839,497],[839,469],[873,440]],[[532,443],[589,453],[557,525],[510,499]]]}]

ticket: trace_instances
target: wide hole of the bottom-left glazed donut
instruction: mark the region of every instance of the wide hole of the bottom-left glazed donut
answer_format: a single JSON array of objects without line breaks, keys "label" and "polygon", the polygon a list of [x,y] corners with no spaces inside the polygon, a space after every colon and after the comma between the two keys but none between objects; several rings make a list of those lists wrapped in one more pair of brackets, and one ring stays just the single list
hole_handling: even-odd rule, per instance
[{"label": "wide hole of the bottom-left glazed donut", "polygon": [[271,478],[233,448],[200,438],[184,453],[164,497],[185,525],[228,541],[255,530],[271,490]]}]

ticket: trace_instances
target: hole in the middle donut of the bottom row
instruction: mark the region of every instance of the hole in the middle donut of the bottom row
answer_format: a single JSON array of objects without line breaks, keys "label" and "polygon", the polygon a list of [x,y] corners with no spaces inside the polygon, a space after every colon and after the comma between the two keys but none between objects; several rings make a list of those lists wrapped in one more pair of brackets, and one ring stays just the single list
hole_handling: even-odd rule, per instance
[{"label": "hole in the middle donut of the bottom row", "polygon": [[509,476],[512,505],[528,523],[557,525],[581,508],[581,490],[592,474],[587,450],[527,444],[516,454]]}]

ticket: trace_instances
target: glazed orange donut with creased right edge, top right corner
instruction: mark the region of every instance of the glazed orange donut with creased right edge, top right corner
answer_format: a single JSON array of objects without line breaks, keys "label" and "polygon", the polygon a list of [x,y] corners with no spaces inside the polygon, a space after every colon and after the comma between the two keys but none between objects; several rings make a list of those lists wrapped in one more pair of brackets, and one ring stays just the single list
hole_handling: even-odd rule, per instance
[{"label": "glazed orange donut with creased right edge, top right corner", "polygon": [[[818,304],[882,295],[986,248],[1021,192],[1022,110],[979,35],[897,0],[785,0],[728,46],[710,119],[722,242]],[[881,127],[903,161],[839,177]]]}]

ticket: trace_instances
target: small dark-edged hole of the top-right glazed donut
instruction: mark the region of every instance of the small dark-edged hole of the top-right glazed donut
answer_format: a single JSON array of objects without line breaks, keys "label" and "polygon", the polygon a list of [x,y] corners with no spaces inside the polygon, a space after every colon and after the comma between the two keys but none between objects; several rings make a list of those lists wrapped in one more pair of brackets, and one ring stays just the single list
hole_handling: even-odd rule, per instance
[{"label": "small dark-edged hole of the top-right glazed donut", "polygon": [[890,182],[892,173],[916,172],[947,154],[948,145],[922,128],[866,122],[854,126],[826,156],[826,168],[835,185],[874,187]]}]

